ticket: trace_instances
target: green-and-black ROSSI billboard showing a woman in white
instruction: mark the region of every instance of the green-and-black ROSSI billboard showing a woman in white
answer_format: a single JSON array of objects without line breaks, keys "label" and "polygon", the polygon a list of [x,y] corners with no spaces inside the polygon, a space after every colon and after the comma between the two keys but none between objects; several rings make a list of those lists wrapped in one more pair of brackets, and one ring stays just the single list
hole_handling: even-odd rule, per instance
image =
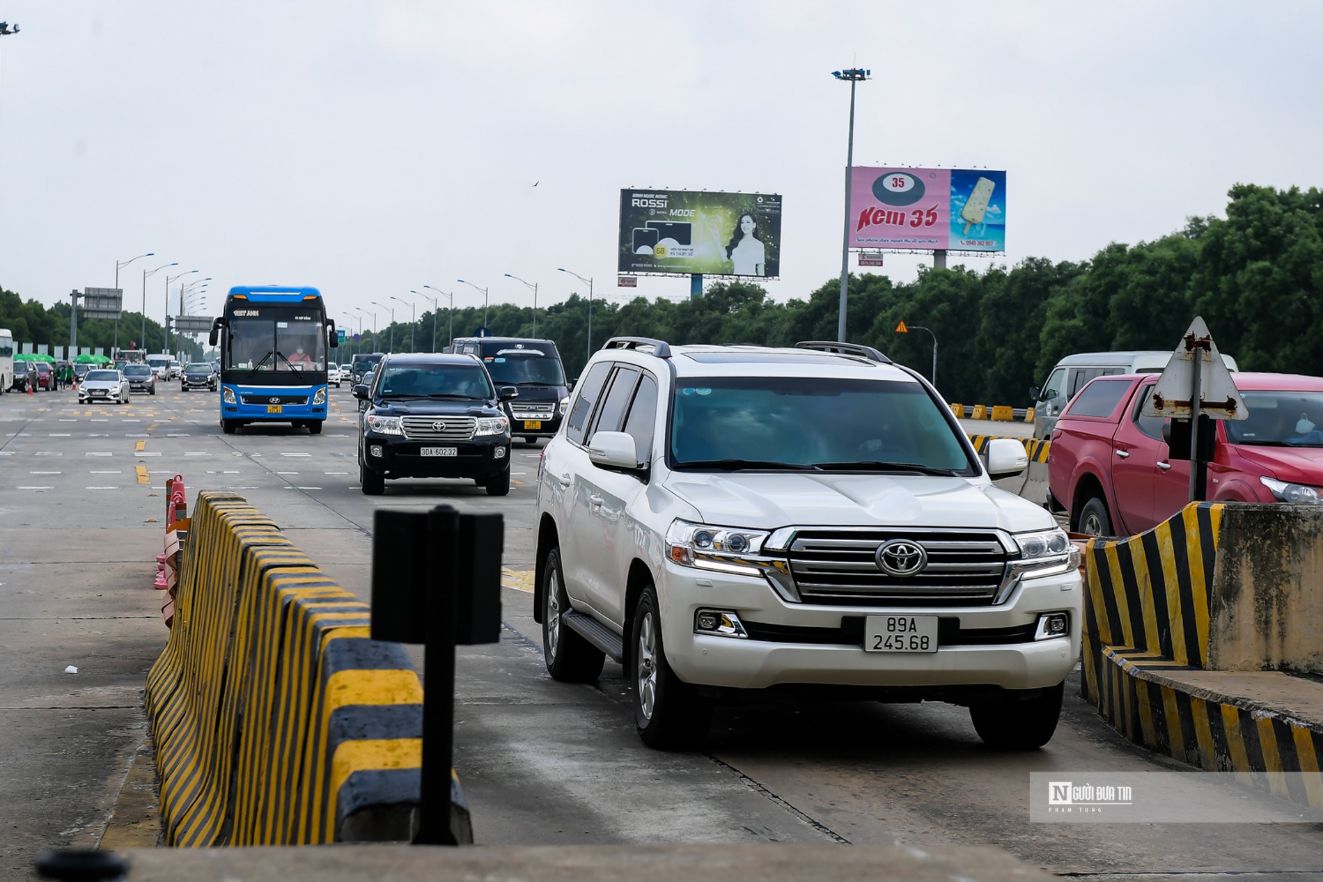
[{"label": "green-and-black ROSSI billboard showing a woman in white", "polygon": [[620,272],[777,276],[781,197],[620,190]]}]

